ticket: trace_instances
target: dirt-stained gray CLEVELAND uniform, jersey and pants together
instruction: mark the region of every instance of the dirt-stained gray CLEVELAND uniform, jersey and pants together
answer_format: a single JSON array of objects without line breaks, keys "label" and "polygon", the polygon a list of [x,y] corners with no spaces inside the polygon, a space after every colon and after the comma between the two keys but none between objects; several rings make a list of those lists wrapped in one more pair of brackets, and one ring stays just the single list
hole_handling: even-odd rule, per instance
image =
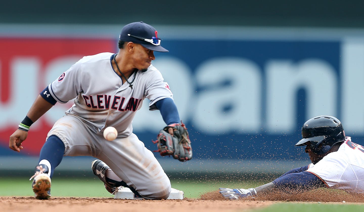
[{"label": "dirt-stained gray CLEVELAND uniform, jersey and pants together", "polygon": [[[148,98],[150,110],[154,110],[154,103],[173,95],[153,65],[136,73],[132,89],[123,84],[112,69],[113,55],[85,56],[48,86],[59,103],[76,99],[47,138],[58,136],[65,145],[65,156],[97,157],[143,197],[154,199],[170,192],[170,181],[153,153],[132,133],[131,122],[143,99]],[[118,130],[113,141],[103,137],[108,126]]]}]

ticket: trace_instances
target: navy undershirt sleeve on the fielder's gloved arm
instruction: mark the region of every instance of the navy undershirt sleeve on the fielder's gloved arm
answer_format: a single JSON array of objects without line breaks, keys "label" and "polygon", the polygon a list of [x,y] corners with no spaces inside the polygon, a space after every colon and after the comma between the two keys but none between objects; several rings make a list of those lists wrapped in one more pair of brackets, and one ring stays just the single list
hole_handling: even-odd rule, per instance
[{"label": "navy undershirt sleeve on the fielder's gloved arm", "polygon": [[167,124],[177,124],[180,122],[179,114],[173,99],[164,98],[155,103],[155,106],[161,112],[163,121]]}]

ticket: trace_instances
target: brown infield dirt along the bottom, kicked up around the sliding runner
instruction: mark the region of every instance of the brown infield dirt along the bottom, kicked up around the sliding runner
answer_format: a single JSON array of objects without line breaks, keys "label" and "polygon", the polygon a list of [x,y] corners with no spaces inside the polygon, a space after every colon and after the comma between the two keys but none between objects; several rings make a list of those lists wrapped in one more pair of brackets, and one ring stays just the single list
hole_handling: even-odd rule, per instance
[{"label": "brown infield dirt along the bottom, kicked up around the sliding runner", "polygon": [[279,201],[364,203],[363,195],[353,195],[337,190],[314,190],[300,195],[270,195],[249,200],[225,200],[218,192],[201,195],[200,199],[183,200],[122,200],[113,198],[51,198],[36,200],[34,197],[0,197],[1,211],[79,212],[234,212],[262,208]]}]

